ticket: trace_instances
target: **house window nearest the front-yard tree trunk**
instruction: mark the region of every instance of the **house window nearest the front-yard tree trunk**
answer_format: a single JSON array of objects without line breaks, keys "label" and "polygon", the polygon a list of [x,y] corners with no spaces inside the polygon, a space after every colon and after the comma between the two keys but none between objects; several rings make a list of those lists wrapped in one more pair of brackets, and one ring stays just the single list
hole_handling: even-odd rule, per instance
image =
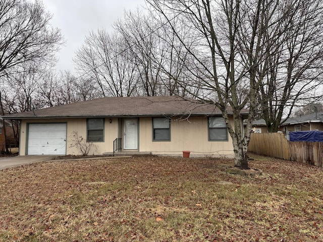
[{"label": "house window nearest the front-yard tree trunk", "polygon": [[210,141],[227,141],[228,130],[223,117],[208,118],[208,140]]}]

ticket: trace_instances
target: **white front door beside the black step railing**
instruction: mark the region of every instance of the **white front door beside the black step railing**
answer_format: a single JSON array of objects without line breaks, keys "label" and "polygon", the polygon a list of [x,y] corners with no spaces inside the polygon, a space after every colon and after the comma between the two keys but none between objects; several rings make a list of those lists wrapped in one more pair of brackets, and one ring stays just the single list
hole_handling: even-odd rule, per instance
[{"label": "white front door beside the black step railing", "polygon": [[124,149],[138,149],[138,120],[124,120]]}]

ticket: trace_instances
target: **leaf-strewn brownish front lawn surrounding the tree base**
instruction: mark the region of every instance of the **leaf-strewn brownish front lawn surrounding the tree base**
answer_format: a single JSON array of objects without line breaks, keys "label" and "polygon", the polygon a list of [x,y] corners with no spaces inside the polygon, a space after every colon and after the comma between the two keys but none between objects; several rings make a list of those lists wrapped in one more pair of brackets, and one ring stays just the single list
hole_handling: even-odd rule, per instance
[{"label": "leaf-strewn brownish front lawn surrounding the tree base", "polygon": [[52,161],[0,171],[0,241],[323,241],[321,168],[255,157]]}]

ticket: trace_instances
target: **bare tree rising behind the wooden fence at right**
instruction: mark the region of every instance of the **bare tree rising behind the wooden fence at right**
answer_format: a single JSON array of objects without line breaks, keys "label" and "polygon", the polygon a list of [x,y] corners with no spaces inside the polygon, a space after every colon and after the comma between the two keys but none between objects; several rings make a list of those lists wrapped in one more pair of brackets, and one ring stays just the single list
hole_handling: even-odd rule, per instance
[{"label": "bare tree rising behind the wooden fence at right", "polygon": [[265,28],[267,72],[259,93],[268,132],[277,132],[294,106],[321,98],[323,81],[323,3],[280,1],[275,17]]}]

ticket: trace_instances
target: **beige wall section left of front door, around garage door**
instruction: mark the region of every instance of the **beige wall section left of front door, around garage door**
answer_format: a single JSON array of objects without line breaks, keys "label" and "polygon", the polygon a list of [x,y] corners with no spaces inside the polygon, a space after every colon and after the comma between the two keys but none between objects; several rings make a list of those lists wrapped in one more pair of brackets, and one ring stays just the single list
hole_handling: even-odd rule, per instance
[{"label": "beige wall section left of front door, around garage door", "polygon": [[[109,119],[112,122],[109,122]],[[79,152],[73,145],[73,131],[77,131],[78,136],[86,139],[86,118],[64,118],[64,119],[27,119],[21,122],[20,149],[19,155],[27,153],[27,124],[31,123],[66,123],[67,124],[67,142],[66,154],[78,155]],[[89,152],[89,155],[100,155],[113,150],[113,141],[118,137],[118,118],[105,118],[104,120],[104,142],[95,142]]]}]

